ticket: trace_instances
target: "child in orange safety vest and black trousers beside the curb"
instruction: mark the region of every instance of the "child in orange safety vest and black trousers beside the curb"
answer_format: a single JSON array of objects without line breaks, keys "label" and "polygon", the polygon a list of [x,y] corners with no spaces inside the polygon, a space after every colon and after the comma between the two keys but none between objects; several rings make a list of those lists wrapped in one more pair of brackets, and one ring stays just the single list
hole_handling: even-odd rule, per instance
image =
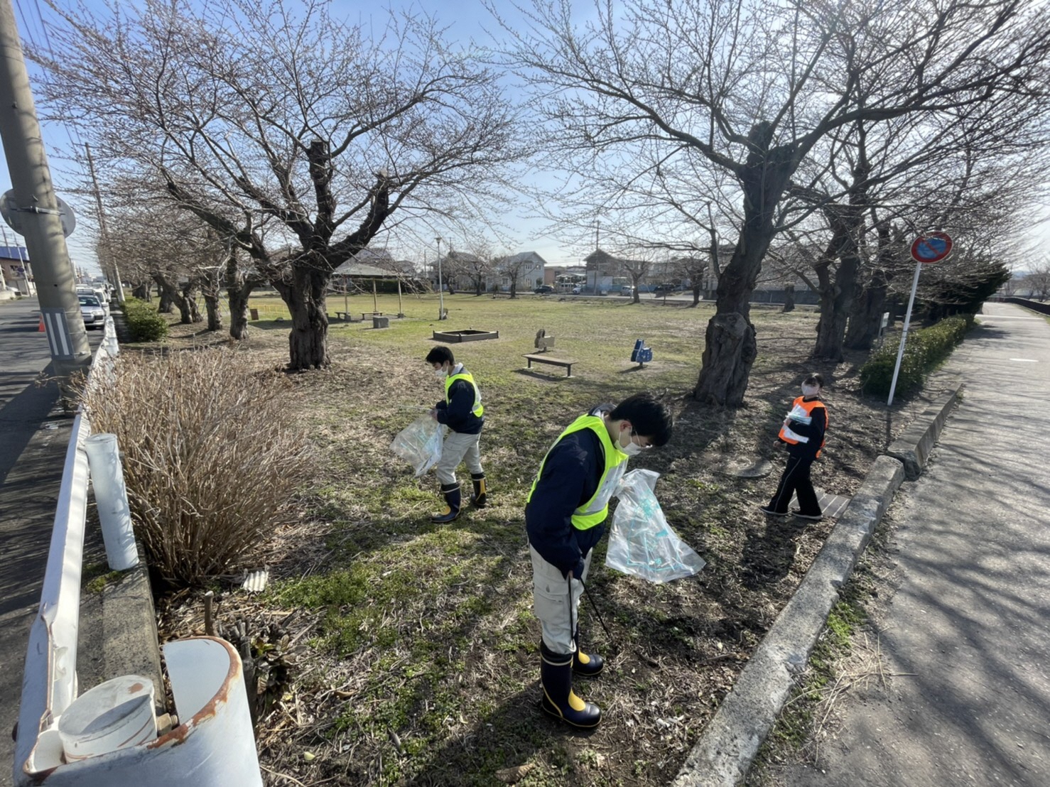
[{"label": "child in orange safety vest and black trousers beside the curb", "polygon": [[802,396],[792,402],[777,440],[788,444],[788,466],[784,468],[777,491],[766,506],[759,506],[763,514],[786,516],[792,494],[798,495],[798,508],[792,513],[800,519],[822,519],[824,514],[817,501],[817,492],[810,481],[810,468],[820,456],[827,431],[827,407],[820,401],[824,378],[810,375],[802,381]]}]

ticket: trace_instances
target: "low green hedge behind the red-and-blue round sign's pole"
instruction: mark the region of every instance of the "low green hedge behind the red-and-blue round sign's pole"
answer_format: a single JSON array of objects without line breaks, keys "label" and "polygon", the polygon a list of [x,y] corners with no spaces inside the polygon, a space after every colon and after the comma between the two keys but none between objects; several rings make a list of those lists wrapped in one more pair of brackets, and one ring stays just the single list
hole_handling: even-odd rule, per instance
[{"label": "low green hedge behind the red-and-blue round sign's pole", "polygon": [[[926,375],[951,355],[951,350],[963,340],[972,325],[972,315],[957,315],[945,318],[928,328],[910,331],[907,343],[904,345],[904,357],[901,358],[901,371],[897,377],[895,395],[905,395],[921,388],[926,382]],[[899,347],[899,342],[883,344],[872,354],[867,363],[860,367],[860,383],[864,392],[882,397],[889,395]]]}]

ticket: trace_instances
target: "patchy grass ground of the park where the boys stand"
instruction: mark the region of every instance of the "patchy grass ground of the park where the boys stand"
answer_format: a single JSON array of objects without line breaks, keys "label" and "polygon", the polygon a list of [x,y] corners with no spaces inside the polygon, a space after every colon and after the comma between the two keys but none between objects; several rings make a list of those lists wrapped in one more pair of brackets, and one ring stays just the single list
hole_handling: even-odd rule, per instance
[{"label": "patchy grass ground of the park where the boys stand", "polygon": [[[268,784],[666,785],[791,597],[832,523],[771,522],[757,505],[782,468],[777,426],[805,371],[830,381],[826,460],[818,487],[850,494],[870,462],[923,400],[887,416],[857,389],[856,365],[806,361],[816,315],[756,309],[759,356],[746,406],[701,407],[691,398],[711,304],[629,304],[623,299],[517,300],[437,296],[402,301],[404,319],[330,327],[332,366],[292,376],[310,439],[323,460],[303,490],[299,525],[247,559],[269,563],[262,596],[223,591],[218,615],[262,631],[274,620],[295,643],[293,669],[259,725]],[[287,360],[288,322],[275,296],[253,298],[260,317],[247,342],[260,366]],[[329,314],[342,310],[342,297]],[[379,311],[398,312],[397,296]],[[372,296],[350,310],[373,311]],[[285,312],[287,315],[287,312]],[[286,318],[287,319],[287,318]],[[225,341],[173,326],[173,347]],[[433,474],[413,477],[388,450],[398,430],[443,396],[423,362],[435,329],[499,331],[450,344],[481,386],[482,460],[489,506],[435,526]],[[555,337],[573,376],[524,369],[536,332]],[[629,360],[644,338],[654,360]],[[607,658],[576,692],[604,711],[591,735],[560,727],[539,709],[539,623],[522,510],[550,443],[601,402],[651,389],[672,404],[671,443],[632,460],[662,474],[657,497],[675,531],[708,561],[696,577],[663,586],[604,567],[604,541],[581,608],[586,647]],[[773,459],[773,474],[742,480],[733,462]],[[461,473],[468,486],[468,475]],[[167,636],[200,631],[200,594],[165,605]],[[611,635],[598,623],[601,613]],[[514,769],[514,770],[509,770]],[[286,774],[286,775],[278,775]]]}]

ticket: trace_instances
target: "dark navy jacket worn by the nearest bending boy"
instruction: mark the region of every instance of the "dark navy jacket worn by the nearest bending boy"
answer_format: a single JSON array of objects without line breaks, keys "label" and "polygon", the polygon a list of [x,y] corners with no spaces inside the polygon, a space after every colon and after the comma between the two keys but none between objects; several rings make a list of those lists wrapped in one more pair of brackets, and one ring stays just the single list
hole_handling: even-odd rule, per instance
[{"label": "dark navy jacket worn by the nearest bending boy", "polygon": [[[602,405],[592,414],[608,412]],[[528,541],[540,556],[565,574],[583,574],[584,557],[605,534],[605,525],[572,527],[572,512],[597,491],[605,468],[602,441],[591,429],[572,432],[554,445],[543,465],[532,497],[525,506]]]}]

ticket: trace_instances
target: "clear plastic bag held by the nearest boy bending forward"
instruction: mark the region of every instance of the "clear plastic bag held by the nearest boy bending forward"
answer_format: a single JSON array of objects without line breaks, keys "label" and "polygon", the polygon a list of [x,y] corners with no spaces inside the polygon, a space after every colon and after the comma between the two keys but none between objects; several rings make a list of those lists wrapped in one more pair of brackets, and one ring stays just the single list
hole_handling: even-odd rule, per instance
[{"label": "clear plastic bag held by the nearest boy bending forward", "polygon": [[650,582],[692,576],[707,563],[664,518],[653,488],[659,473],[631,470],[620,481],[605,565]]}]

